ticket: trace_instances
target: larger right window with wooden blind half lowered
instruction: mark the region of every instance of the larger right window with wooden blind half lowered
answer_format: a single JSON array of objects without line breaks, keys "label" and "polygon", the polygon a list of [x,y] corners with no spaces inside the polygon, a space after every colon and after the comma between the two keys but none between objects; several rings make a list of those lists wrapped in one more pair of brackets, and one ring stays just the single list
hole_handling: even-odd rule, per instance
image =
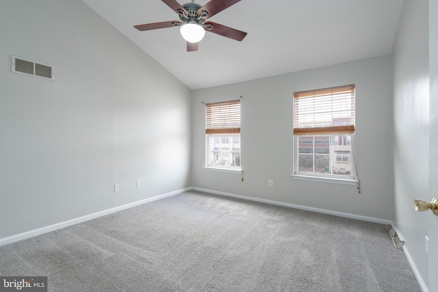
[{"label": "larger right window with wooden blind half lowered", "polygon": [[294,93],[294,175],[355,180],[355,85]]}]

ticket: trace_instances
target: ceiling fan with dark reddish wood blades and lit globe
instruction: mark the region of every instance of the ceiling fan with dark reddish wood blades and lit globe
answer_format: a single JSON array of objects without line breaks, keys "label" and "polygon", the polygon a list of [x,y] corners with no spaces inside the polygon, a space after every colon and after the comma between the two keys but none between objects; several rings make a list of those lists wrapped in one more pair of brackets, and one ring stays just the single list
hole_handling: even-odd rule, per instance
[{"label": "ceiling fan with dark reddish wood blades and lit globe", "polygon": [[210,31],[220,36],[232,38],[233,40],[241,41],[245,38],[246,32],[213,23],[205,22],[211,16],[214,16],[229,8],[231,5],[240,0],[211,0],[207,4],[201,6],[194,3],[186,3],[180,5],[176,0],[162,0],[173,11],[177,12],[180,21],[164,21],[162,23],[147,23],[144,25],[134,25],[139,31],[162,29],[166,27],[181,27],[181,35],[187,41],[187,51],[198,51],[199,42],[205,35],[205,31]]}]

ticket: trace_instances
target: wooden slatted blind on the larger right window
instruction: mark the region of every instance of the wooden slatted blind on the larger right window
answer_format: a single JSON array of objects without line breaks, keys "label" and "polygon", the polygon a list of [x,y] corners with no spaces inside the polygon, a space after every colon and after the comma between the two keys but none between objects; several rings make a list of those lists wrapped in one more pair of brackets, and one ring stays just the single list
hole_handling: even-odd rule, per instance
[{"label": "wooden slatted blind on the larger right window", "polygon": [[355,133],[355,85],[294,93],[294,135]]}]

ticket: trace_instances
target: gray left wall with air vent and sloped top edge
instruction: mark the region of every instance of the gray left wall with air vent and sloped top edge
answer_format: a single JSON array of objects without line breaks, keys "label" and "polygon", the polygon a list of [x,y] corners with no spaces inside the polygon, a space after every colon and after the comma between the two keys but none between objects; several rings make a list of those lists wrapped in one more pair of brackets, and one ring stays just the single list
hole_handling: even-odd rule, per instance
[{"label": "gray left wall with air vent and sloped top edge", "polygon": [[190,90],[86,4],[2,0],[0,40],[0,239],[190,187]]}]

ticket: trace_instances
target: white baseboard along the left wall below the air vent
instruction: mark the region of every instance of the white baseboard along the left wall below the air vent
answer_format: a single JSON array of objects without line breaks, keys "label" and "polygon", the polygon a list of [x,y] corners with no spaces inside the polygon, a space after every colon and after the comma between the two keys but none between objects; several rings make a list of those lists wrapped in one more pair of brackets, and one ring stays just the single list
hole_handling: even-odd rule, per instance
[{"label": "white baseboard along the left wall below the air vent", "polygon": [[99,212],[92,213],[92,214],[89,214],[89,215],[85,215],[85,216],[82,216],[82,217],[78,217],[78,218],[75,218],[75,219],[72,219],[72,220],[67,220],[67,221],[64,221],[64,222],[56,223],[56,224],[53,224],[53,225],[50,225],[50,226],[45,226],[45,227],[38,228],[38,229],[35,229],[35,230],[30,230],[30,231],[27,231],[25,233],[20,233],[18,235],[12,235],[10,237],[5,237],[5,238],[0,239],[0,246],[8,244],[8,243],[13,243],[15,241],[20,241],[20,240],[23,240],[23,239],[27,239],[27,238],[30,238],[30,237],[34,237],[34,236],[37,236],[37,235],[42,235],[44,233],[49,233],[51,231],[58,230],[58,229],[61,229],[61,228],[65,228],[65,227],[68,227],[68,226],[71,226],[71,225],[74,225],[74,224],[78,224],[78,223],[81,223],[81,222],[86,222],[88,220],[92,220],[92,219],[95,219],[97,217],[102,217],[102,216],[105,216],[105,215],[109,215],[111,213],[116,213],[118,211],[122,211],[122,210],[125,210],[125,209],[136,207],[136,206],[139,206],[141,204],[146,204],[146,203],[153,202],[153,201],[156,201],[156,200],[161,200],[161,199],[164,199],[164,198],[167,198],[167,197],[170,197],[170,196],[175,196],[177,194],[182,194],[183,192],[190,191],[190,190],[192,190],[192,187],[186,187],[185,189],[179,189],[177,191],[171,191],[170,193],[154,196],[152,198],[147,198],[147,199],[140,200],[140,201],[137,201],[137,202],[131,202],[129,204],[124,204],[122,206],[114,207],[112,209],[107,209],[107,210],[104,210],[104,211],[99,211]]}]

